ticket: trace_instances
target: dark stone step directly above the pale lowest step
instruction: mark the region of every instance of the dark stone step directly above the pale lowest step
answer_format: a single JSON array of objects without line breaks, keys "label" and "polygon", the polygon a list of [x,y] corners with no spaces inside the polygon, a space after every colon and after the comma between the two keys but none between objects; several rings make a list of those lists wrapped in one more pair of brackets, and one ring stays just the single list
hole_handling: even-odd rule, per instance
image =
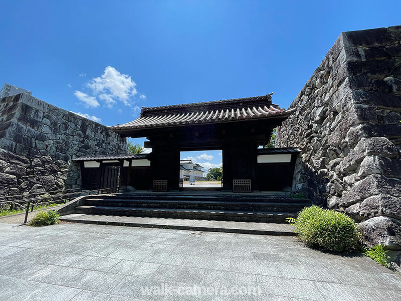
[{"label": "dark stone step directly above the pale lowest step", "polygon": [[251,212],[235,210],[194,210],[194,209],[170,209],[170,208],[135,208],[112,206],[77,206],[76,213],[119,215],[119,216],[148,216],[165,218],[206,219],[243,222],[278,222],[284,223],[288,217],[296,217],[296,213],[290,212]]}]

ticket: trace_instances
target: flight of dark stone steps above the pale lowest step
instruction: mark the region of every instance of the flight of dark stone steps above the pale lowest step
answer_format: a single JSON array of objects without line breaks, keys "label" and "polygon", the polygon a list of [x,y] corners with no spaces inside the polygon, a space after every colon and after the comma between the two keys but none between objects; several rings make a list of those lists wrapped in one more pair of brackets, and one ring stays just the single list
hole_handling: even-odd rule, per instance
[{"label": "flight of dark stone steps above the pale lowest step", "polygon": [[[213,193],[142,193],[87,196],[74,213],[234,222],[284,223],[310,201],[281,196]],[[70,221],[66,218],[62,220]]]}]

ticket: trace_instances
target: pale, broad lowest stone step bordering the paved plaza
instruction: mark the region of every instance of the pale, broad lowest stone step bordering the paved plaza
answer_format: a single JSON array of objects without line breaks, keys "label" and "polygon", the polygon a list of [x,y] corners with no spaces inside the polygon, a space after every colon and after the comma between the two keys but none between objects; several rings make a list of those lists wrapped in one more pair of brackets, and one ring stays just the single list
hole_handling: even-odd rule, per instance
[{"label": "pale, broad lowest stone step bordering the paved plaza", "polygon": [[234,222],[234,221],[214,221],[214,220],[195,220],[195,219],[173,219],[157,217],[135,217],[135,216],[115,216],[115,215],[92,215],[73,213],[61,217],[62,221],[147,227],[147,228],[165,228],[196,231],[230,232],[243,234],[261,234],[261,235],[283,235],[294,236],[294,227],[289,224],[276,223],[257,223],[257,222]]}]

